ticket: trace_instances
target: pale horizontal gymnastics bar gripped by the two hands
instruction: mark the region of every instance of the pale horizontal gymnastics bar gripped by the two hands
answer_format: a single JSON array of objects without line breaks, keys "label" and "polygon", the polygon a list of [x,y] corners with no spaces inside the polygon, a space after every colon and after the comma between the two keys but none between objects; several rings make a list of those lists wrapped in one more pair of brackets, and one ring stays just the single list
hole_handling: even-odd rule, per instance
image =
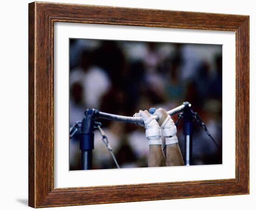
[{"label": "pale horizontal gymnastics bar gripped by the two hands", "polygon": [[[167,113],[168,113],[168,115],[174,115],[178,112],[181,112],[187,105],[190,105],[189,102],[184,102],[182,105],[180,105],[172,110],[169,110]],[[127,117],[127,116],[122,116],[122,115],[109,114],[106,112],[98,112],[96,118],[121,121],[121,122],[126,122],[126,123],[144,124],[143,119],[141,117]],[[155,115],[154,118],[156,120],[158,120],[159,116]]]}]

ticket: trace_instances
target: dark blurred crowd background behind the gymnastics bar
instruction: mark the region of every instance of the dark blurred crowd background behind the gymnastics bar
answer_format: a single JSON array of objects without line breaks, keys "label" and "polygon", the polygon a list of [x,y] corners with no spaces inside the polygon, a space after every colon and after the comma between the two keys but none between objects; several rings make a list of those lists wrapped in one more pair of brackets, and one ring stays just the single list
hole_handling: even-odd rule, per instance
[{"label": "dark blurred crowd background behind the gymnastics bar", "polygon": [[[192,165],[222,164],[222,46],[162,42],[70,39],[69,126],[87,108],[133,116],[139,110],[167,111],[184,101],[192,104],[215,144],[194,125]],[[172,116],[177,120],[177,115]],[[99,120],[121,168],[148,166],[148,140],[139,125]],[[177,137],[185,156],[182,119]],[[81,170],[79,135],[69,141],[70,170]],[[115,163],[94,132],[93,169]]]}]

